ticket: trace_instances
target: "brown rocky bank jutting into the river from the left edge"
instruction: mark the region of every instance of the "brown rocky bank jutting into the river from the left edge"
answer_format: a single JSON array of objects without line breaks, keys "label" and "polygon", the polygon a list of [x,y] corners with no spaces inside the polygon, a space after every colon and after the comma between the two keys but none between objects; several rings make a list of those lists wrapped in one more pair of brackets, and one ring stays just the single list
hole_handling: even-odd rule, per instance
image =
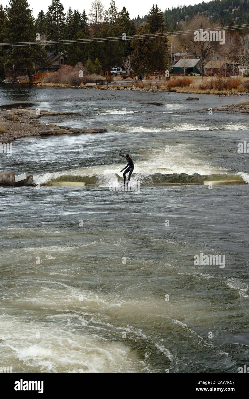
[{"label": "brown rocky bank jutting into the river from the left edge", "polygon": [[[38,115],[37,115],[38,114]],[[106,129],[69,128],[55,124],[40,123],[42,116],[75,115],[72,112],[36,109],[11,109],[0,112],[0,142],[10,143],[17,138],[51,134],[105,133]]]}]

